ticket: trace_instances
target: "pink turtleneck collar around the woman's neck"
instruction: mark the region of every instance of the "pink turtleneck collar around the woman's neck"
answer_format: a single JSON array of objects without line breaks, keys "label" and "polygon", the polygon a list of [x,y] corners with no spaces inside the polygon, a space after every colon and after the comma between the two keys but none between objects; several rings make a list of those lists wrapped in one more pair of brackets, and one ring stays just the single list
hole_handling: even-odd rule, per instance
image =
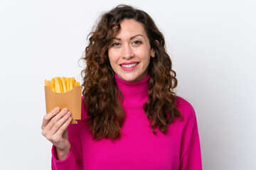
[{"label": "pink turtleneck collar around the woman's neck", "polygon": [[122,104],[139,105],[146,103],[149,98],[149,75],[137,82],[127,82],[114,74],[117,87],[122,92]]}]

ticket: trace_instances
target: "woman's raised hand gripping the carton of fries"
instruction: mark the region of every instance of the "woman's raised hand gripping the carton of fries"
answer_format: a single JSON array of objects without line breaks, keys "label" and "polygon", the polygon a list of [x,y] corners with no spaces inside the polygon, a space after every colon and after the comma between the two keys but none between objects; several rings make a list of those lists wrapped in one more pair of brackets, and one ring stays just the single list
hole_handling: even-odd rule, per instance
[{"label": "woman's raised hand gripping the carton of fries", "polygon": [[43,117],[42,134],[56,147],[58,160],[65,159],[70,152],[68,125],[72,118],[67,108],[54,108]]}]

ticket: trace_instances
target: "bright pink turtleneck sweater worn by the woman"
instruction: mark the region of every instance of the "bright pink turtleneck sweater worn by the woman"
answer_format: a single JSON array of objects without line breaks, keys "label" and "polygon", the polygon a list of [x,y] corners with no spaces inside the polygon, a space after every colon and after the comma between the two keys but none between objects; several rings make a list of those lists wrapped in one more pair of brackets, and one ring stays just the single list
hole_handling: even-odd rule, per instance
[{"label": "bright pink turtleneck sweater worn by the woman", "polygon": [[[148,98],[149,76],[136,83],[115,78],[124,97],[124,134],[114,141],[105,138],[95,141],[87,128],[88,123],[78,120],[78,124],[68,126],[71,144],[68,157],[63,161],[55,159],[53,146],[52,169],[201,170],[201,149],[193,107],[178,97],[177,108],[183,120],[174,118],[166,134],[156,129],[154,135],[142,108]],[[85,118],[87,111],[82,107],[82,120]]]}]

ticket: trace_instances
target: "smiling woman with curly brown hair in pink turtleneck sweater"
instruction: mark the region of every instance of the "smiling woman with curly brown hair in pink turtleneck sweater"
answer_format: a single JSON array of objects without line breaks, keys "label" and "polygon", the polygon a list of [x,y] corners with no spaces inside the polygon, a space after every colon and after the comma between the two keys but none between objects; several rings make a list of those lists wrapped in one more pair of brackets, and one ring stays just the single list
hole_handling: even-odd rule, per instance
[{"label": "smiling woman with curly brown hair in pink turtleneck sweater", "polygon": [[52,169],[202,169],[192,106],[174,94],[164,36],[144,11],[117,6],[90,33],[82,120],[44,116]]}]

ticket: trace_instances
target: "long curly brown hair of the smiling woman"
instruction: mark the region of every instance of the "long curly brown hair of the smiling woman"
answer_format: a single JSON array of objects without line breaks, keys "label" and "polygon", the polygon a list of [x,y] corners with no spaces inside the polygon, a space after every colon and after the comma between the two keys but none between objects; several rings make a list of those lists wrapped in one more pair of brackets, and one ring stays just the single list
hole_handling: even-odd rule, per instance
[{"label": "long curly brown hair of the smiling woman", "polygon": [[81,58],[86,62],[81,72],[84,74],[82,95],[85,97],[82,103],[88,115],[85,121],[90,122],[90,131],[95,140],[102,137],[114,140],[122,132],[122,93],[117,88],[110,66],[108,47],[124,19],[142,23],[150,46],[155,50],[155,57],[151,57],[149,63],[149,98],[143,106],[152,131],[155,134],[155,128],[159,127],[162,133],[166,133],[167,125],[174,120],[174,116],[182,117],[176,108],[174,88],[178,81],[166,53],[164,35],[147,13],[132,6],[119,5],[101,16],[97,26],[88,35],[89,45],[85,48],[85,57]]}]

